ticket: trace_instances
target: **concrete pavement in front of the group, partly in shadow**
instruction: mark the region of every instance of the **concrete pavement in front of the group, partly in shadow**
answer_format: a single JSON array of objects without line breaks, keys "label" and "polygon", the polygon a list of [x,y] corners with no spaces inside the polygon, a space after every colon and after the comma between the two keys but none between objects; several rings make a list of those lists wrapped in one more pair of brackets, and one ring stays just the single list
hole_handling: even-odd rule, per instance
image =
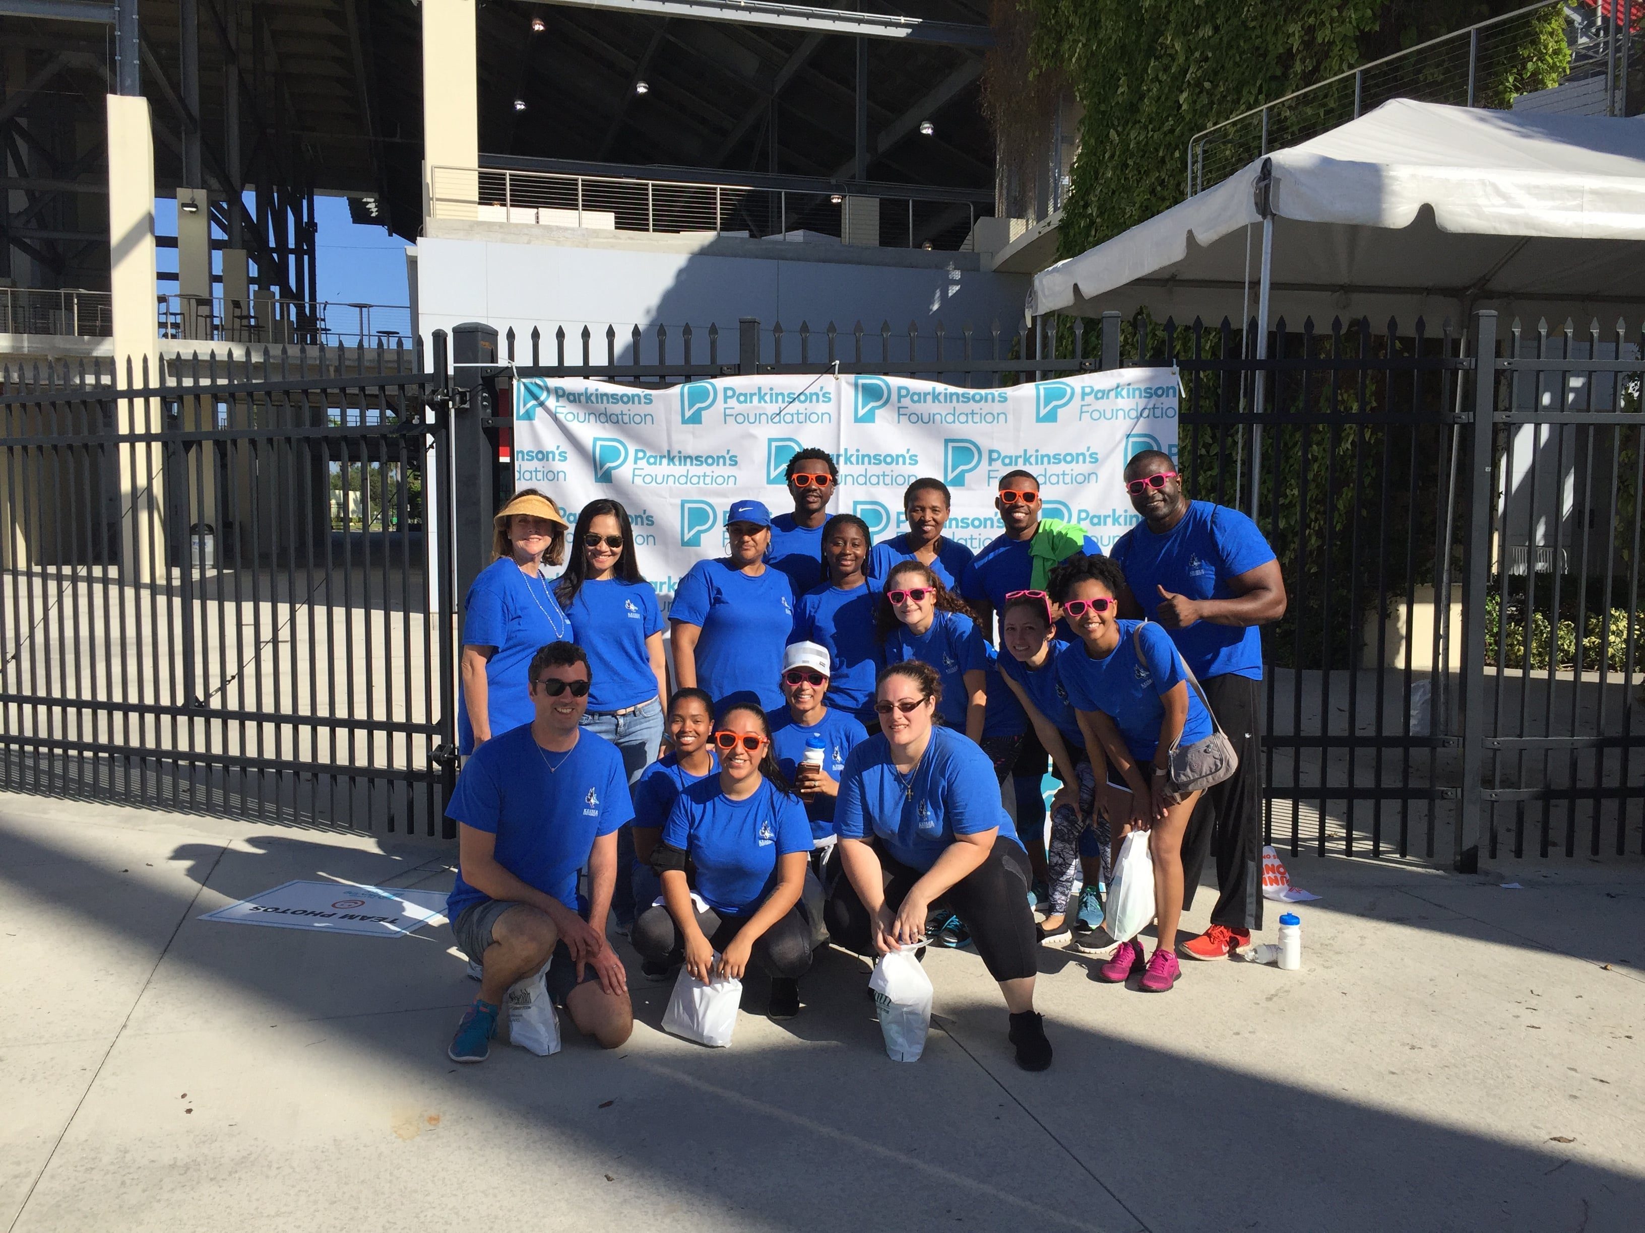
[{"label": "concrete pavement in front of the group, partly in shadow", "polygon": [[1326,896],[1298,909],[1303,972],[1184,965],[1145,996],[1046,952],[1041,1075],[971,952],[929,958],[916,1065],[883,1054],[867,965],[827,952],[793,1023],[752,980],[727,1051],[661,1034],[668,986],[632,962],[627,1047],[456,1067],[474,985],[444,927],[199,919],[291,878],[446,889],[452,857],[0,796],[0,1228],[1642,1223],[1638,861],[1288,861]]}]

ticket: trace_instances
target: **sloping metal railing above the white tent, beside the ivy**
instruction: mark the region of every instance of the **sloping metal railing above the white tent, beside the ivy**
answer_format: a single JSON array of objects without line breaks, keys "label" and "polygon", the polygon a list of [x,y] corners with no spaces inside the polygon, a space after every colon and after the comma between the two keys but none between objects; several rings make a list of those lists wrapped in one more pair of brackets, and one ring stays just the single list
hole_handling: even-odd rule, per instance
[{"label": "sloping metal railing above the white tent, beside the ivy", "polygon": [[[1494,100],[1482,95],[1484,84],[1495,81],[1505,67],[1522,58],[1520,46],[1528,28],[1550,8],[1559,7],[1563,5],[1558,0],[1530,5],[1441,35],[1194,133],[1188,141],[1188,196],[1201,192],[1207,184],[1217,184],[1272,150],[1318,136],[1390,99],[1459,107],[1494,105]],[[1607,41],[1617,44],[1612,56],[1620,53],[1622,77],[1625,77],[1625,28],[1620,38],[1610,35]],[[1579,53],[1582,46],[1586,43],[1581,43],[1579,35]]]}]

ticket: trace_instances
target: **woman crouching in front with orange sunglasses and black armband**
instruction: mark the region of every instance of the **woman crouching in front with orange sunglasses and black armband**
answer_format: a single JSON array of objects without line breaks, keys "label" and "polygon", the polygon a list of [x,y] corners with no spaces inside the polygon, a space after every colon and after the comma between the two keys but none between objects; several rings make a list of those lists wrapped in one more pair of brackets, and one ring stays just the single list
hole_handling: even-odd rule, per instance
[{"label": "woman crouching in front with orange sunglasses and black armband", "polygon": [[[635,922],[633,949],[648,963],[666,963],[683,949],[686,972],[704,983],[742,980],[753,963],[772,978],[770,1016],[791,1019],[818,942],[799,907],[811,824],[776,769],[758,709],[730,707],[714,748],[721,773],[686,786],[663,824],[651,866],[666,906]],[[702,907],[686,883],[688,857]]]}]

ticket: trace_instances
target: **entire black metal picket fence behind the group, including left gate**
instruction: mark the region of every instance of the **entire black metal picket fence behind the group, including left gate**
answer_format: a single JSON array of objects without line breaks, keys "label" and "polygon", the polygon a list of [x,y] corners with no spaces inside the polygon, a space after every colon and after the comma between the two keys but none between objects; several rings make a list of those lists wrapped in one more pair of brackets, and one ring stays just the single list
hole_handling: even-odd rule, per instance
[{"label": "entire black metal picket fence behind the group, including left gate", "polygon": [[1464,870],[1645,850],[1642,335],[1281,321],[1267,360],[1253,337],[745,319],[635,329],[628,363],[615,330],[475,327],[451,363],[436,335],[429,372],[265,358],[135,396],[7,375],[3,783],[431,834],[513,376],[837,363],[992,386],[1170,363],[1191,495],[1253,513],[1291,597],[1263,633],[1273,842]]}]

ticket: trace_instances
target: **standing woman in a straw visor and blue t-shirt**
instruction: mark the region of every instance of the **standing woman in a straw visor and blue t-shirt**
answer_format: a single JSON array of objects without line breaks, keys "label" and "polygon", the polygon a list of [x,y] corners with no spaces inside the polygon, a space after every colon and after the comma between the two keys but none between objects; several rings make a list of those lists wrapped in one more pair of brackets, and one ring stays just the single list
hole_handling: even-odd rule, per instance
[{"label": "standing woman in a straw visor and blue t-shirt", "polygon": [[571,618],[543,577],[566,556],[566,516],[536,488],[517,492],[492,520],[492,564],[462,600],[464,755],[536,717],[526,669],[538,648],[571,641]]}]

